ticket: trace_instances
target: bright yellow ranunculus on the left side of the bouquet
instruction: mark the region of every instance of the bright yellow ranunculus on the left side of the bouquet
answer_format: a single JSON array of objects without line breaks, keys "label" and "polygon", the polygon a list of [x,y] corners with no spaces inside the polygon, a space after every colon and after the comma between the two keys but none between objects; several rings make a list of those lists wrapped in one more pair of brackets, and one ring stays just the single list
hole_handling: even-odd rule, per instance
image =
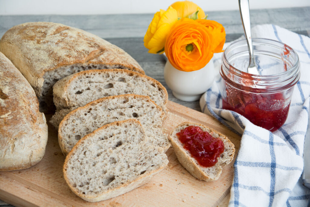
[{"label": "bright yellow ranunculus on the left side of the bouquet", "polygon": [[143,39],[144,47],[149,49],[149,53],[164,52],[167,34],[177,20],[178,14],[172,7],[169,7],[167,11],[161,9],[154,14]]}]

